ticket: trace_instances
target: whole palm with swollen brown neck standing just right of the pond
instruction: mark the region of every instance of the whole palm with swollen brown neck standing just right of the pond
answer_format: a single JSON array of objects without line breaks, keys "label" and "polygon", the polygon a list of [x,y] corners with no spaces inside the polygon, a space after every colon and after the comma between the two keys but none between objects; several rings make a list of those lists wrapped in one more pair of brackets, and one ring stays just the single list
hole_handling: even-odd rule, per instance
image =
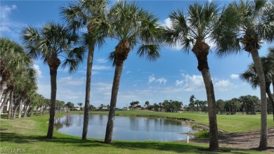
[{"label": "whole palm with swollen brown neck standing just right of the pond", "polygon": [[194,3],[188,6],[188,13],[185,15],[183,11],[173,11],[169,14],[171,27],[165,27],[163,38],[169,46],[179,44],[181,48],[189,53],[190,49],[195,54],[198,66],[197,69],[202,72],[205,89],[207,91],[207,102],[209,110],[209,150],[218,151],[218,127],[216,118],[216,100],[214,96],[214,86],[212,84],[211,75],[207,56],[210,46],[206,40],[216,41],[216,39],[227,38],[227,45],[223,46],[225,50],[231,50],[231,36],[233,32],[222,33],[225,37],[215,38],[214,34],[218,25],[223,27],[235,28],[233,24],[234,15],[230,11],[221,12],[218,5],[211,2],[204,4]]}]

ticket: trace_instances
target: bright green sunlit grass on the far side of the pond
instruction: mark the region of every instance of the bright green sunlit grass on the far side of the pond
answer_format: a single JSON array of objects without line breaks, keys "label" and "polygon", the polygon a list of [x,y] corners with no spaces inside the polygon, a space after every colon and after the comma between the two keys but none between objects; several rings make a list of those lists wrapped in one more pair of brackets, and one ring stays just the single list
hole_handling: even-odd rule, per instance
[{"label": "bright green sunlit grass on the far side of the pond", "polygon": [[[107,112],[96,111],[93,114],[108,114]],[[116,115],[143,115],[157,117],[174,117],[194,120],[197,124],[209,125],[207,113],[183,112],[183,113],[159,113],[145,110],[123,110],[115,112]],[[261,115],[217,115],[218,129],[227,132],[252,131],[261,129]],[[268,115],[268,127],[274,127],[273,115]]]}]

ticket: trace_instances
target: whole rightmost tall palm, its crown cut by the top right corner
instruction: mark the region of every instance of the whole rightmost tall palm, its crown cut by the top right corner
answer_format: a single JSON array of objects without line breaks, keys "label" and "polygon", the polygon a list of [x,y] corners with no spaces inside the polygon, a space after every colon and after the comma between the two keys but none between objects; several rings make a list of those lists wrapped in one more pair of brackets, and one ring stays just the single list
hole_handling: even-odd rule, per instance
[{"label": "whole rightmost tall palm, its crown cut by the top right corner", "polygon": [[[230,30],[230,28],[220,27],[219,34],[216,34],[216,36],[221,38],[226,32],[235,32],[235,37],[230,39],[237,40],[238,42],[234,41],[235,44],[239,47],[242,46],[242,49],[252,56],[259,77],[261,93],[261,139],[259,148],[266,148],[268,146],[266,79],[263,74],[259,49],[262,42],[274,40],[274,2],[268,0],[235,1],[228,6],[228,10],[234,13],[234,23],[237,28]],[[219,39],[216,44],[221,44],[222,47],[223,44],[227,44],[227,41],[229,40]],[[231,52],[220,52],[220,54],[225,55],[229,53]]]}]

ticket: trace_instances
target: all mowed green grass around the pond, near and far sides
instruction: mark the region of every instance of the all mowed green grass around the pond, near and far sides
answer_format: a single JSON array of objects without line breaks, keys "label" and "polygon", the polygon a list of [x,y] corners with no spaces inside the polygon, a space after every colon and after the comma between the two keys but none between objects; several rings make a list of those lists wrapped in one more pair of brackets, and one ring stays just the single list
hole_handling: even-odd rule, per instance
[{"label": "all mowed green grass around the pond, near and far sides", "polygon": [[[73,113],[73,112],[72,112]],[[81,112],[75,112],[81,113]],[[107,112],[92,112],[91,114]],[[58,117],[65,115],[57,114]],[[155,113],[150,111],[117,111],[117,115],[152,115],[195,120],[207,124],[205,113]],[[45,139],[49,115],[26,117],[16,120],[1,118],[1,153],[5,150],[19,149],[25,153],[204,153],[199,148],[208,148],[207,144],[158,141],[113,141],[112,145],[100,139],[82,141],[80,137],[69,136],[55,131],[53,139]],[[269,126],[273,127],[272,115],[268,116]],[[218,115],[218,127],[225,131],[248,131],[259,129],[259,115]],[[229,123],[229,124],[228,124]],[[254,125],[258,126],[253,126]],[[104,130],[102,130],[104,131]],[[92,133],[92,130],[89,130]],[[230,153],[266,153],[255,150],[221,148]]]}]

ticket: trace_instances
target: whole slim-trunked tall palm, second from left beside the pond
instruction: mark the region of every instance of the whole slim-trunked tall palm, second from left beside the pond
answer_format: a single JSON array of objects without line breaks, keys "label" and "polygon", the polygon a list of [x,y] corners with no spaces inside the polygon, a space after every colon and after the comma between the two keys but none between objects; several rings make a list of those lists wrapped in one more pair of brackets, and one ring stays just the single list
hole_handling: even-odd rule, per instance
[{"label": "whole slim-trunked tall palm, second from left beside the pond", "polygon": [[104,22],[107,10],[107,0],[84,0],[76,4],[63,7],[61,15],[73,30],[86,27],[88,33],[84,34],[84,44],[89,53],[86,63],[86,96],[84,103],[84,125],[82,139],[87,139],[89,127],[89,102],[91,96],[91,70],[95,46],[102,46],[107,34],[107,24]]}]

